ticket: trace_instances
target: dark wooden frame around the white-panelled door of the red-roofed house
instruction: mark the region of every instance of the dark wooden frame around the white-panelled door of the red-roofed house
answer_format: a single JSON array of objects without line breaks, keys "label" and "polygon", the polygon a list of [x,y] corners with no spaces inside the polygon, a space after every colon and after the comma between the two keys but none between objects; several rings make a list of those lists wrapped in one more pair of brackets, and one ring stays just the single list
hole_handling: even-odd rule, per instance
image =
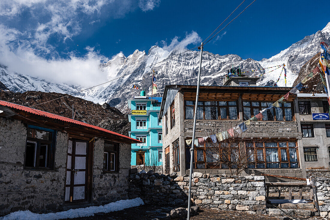
[{"label": "dark wooden frame around the white-panelled door of the red-roofed house", "polygon": [[[87,151],[86,151],[86,168],[85,168],[85,172],[86,172],[86,177],[85,177],[85,199],[84,200],[78,200],[78,201],[74,201],[74,202],[70,202],[69,201],[65,201],[65,190],[66,190],[66,178],[65,178],[65,182],[64,182],[64,204],[84,204],[84,203],[90,203],[91,199],[92,199],[92,186],[93,186],[93,156],[94,156],[94,140],[86,140],[86,138],[84,138],[85,140],[82,139],[77,139],[77,138],[72,138],[69,137],[68,138],[68,146],[69,146],[69,141],[72,141],[72,153],[71,153],[71,169],[74,166],[74,150],[76,149],[76,142],[85,142],[86,143],[86,147],[87,147]],[[65,176],[67,174],[67,163],[68,163],[68,153],[67,153],[67,159],[66,159],[66,166],[65,166]],[[72,171],[70,171],[71,177],[70,177],[70,188],[73,185],[73,179],[72,179]],[[73,187],[72,187],[73,189]],[[73,196],[71,195],[73,194],[73,190],[71,192],[70,190],[70,197]]]}]

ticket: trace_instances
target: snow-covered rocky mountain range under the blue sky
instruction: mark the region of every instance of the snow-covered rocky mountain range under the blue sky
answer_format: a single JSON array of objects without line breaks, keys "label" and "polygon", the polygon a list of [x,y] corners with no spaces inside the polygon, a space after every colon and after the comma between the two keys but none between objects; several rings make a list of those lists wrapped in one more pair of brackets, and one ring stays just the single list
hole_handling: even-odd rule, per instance
[{"label": "snow-covered rocky mountain range under the blue sky", "polygon": [[[244,60],[235,54],[218,55],[207,51],[216,59],[207,53],[203,54],[201,83],[203,85],[222,85],[222,78],[227,73],[227,69],[231,66],[240,66],[243,71],[248,71],[284,63],[288,70],[286,77],[287,86],[291,86],[304,63],[320,51],[320,41],[330,43],[330,22],[321,31],[306,36],[303,40],[281,51],[279,54],[269,59],[262,59],[261,61],[250,58]],[[140,91],[132,91],[132,84],[136,84],[141,89],[149,91],[150,94],[152,70],[156,72],[157,78],[156,84],[158,92],[156,96],[162,96],[166,84],[196,84],[199,51],[188,51],[180,54],[181,52],[182,50],[178,49],[167,51],[161,47],[153,46],[149,49],[148,53],[136,50],[127,57],[119,53],[107,63],[102,64],[100,68],[107,73],[108,80],[118,77],[121,78],[102,86],[77,93],[75,96],[95,103],[108,102],[112,106],[116,106],[116,108],[122,112],[127,112],[127,98],[138,95]],[[164,59],[167,60],[156,64],[152,68],[148,67]],[[273,69],[266,70],[263,80],[258,82],[259,85],[272,86],[275,84],[274,81],[278,79],[281,68],[268,73]],[[248,75],[254,76],[254,74],[258,75],[261,73],[265,73],[265,70],[248,73]],[[45,79],[33,78],[23,74],[24,73],[8,73],[4,66],[0,66],[0,81],[15,92],[37,90],[70,94],[83,89],[81,86],[65,83],[56,84],[48,82]],[[283,74],[278,85],[284,86]]]}]

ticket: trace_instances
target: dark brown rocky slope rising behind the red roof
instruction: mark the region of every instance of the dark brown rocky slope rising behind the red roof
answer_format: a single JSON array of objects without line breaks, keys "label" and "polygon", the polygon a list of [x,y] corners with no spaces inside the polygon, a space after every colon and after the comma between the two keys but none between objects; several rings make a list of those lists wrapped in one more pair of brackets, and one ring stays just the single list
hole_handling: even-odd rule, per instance
[{"label": "dark brown rocky slope rising behind the red roof", "polygon": [[[13,93],[10,91],[0,91],[1,100],[24,106],[47,102],[61,96],[63,94],[55,92],[27,91],[24,93]],[[72,118],[72,106],[76,111],[76,120],[128,135],[130,123],[128,122],[127,115],[122,114],[118,109],[110,107],[108,104],[101,106],[78,97],[67,96],[32,108]]]}]

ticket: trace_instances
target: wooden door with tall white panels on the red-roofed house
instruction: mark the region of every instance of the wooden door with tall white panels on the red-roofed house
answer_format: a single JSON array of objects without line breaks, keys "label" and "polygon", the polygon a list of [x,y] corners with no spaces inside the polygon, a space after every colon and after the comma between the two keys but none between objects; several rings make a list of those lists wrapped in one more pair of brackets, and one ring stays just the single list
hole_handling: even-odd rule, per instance
[{"label": "wooden door with tall white panels on the red-roofed house", "polygon": [[87,199],[87,141],[69,139],[65,182],[65,202],[85,202]]}]

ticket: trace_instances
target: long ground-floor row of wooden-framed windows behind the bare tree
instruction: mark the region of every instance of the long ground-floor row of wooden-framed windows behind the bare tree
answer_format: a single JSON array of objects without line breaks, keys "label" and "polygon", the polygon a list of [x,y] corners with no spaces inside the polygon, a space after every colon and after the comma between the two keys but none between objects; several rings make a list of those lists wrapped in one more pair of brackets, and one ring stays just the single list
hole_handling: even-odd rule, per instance
[{"label": "long ground-floor row of wooden-framed windows behind the bare tree", "polygon": [[[212,147],[214,143],[205,142],[199,145],[195,141],[193,167],[194,169],[228,169],[224,161],[220,161],[219,156],[214,155]],[[242,146],[241,144],[244,144]],[[239,149],[245,149],[252,152],[247,155],[249,163],[247,168],[298,168],[298,149],[296,142],[257,142],[257,141],[242,141],[237,143]],[[185,144],[186,148],[186,167],[190,166],[190,146]],[[225,150],[221,148],[221,154],[225,155]],[[236,156],[228,154],[228,160],[237,160]],[[221,158],[224,160],[224,158]]]}]

